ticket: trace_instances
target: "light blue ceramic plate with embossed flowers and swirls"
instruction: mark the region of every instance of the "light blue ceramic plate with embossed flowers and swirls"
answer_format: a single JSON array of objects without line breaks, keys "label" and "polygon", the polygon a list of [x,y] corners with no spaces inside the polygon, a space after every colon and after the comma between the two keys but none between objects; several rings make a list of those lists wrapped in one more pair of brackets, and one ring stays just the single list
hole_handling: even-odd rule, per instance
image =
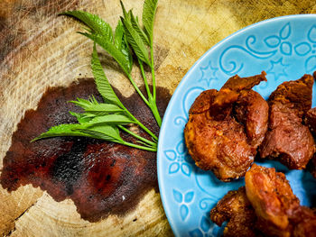
[{"label": "light blue ceramic plate with embossed flowers and swirls", "polygon": [[[219,89],[228,77],[267,73],[255,90],[267,98],[286,80],[316,70],[316,15],[290,15],[256,23],[207,51],[183,77],[163,118],[158,145],[158,180],[164,211],[176,236],[218,236],[223,228],[209,211],[244,179],[224,183],[194,165],[183,139],[188,112],[200,92]],[[313,106],[316,89],[313,88]],[[302,205],[316,205],[316,179],[306,171],[289,170],[274,161],[260,163],[286,174]],[[314,200],[314,201],[312,201]],[[312,204],[312,202],[314,202]]]}]

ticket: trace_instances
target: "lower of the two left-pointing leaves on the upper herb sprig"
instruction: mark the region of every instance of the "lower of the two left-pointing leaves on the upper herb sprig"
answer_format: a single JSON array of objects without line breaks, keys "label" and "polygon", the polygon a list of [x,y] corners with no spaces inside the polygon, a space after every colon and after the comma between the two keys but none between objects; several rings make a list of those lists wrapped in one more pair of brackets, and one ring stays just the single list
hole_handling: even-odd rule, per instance
[{"label": "lower of the two left-pointing leaves on the upper herb sprig", "polygon": [[116,59],[116,62],[121,66],[121,68],[124,70],[126,75],[129,75],[132,67],[130,65],[128,55],[123,53],[121,50],[118,50],[112,42],[105,41],[102,35],[99,35],[96,33],[85,33],[85,32],[79,32],[79,33],[88,37],[90,40],[98,43],[99,46],[101,46],[114,59]]}]

